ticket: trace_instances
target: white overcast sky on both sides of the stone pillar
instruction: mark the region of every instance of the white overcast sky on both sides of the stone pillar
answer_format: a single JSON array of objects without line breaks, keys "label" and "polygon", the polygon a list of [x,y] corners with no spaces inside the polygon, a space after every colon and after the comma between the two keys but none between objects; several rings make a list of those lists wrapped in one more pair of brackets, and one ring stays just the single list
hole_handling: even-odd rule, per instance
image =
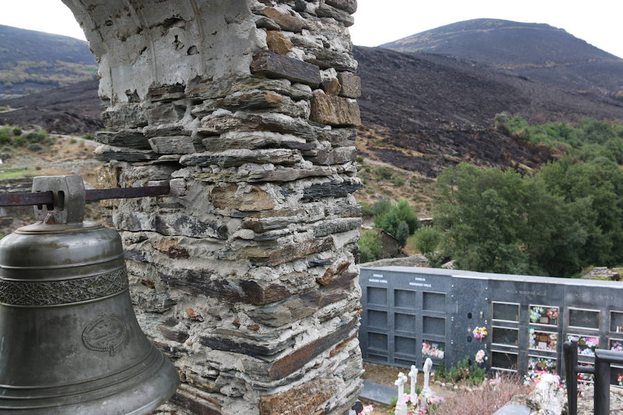
[{"label": "white overcast sky on both sides of the stone pillar", "polygon": [[[354,44],[378,46],[479,17],[551,24],[623,57],[622,0],[359,0],[350,30]],[[60,0],[0,0],[0,24],[84,39]]]}]

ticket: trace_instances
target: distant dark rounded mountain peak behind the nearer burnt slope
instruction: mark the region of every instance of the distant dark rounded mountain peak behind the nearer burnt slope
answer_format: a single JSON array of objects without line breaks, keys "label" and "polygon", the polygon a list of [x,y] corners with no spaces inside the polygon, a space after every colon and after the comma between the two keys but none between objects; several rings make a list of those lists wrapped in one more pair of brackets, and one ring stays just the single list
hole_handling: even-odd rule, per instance
[{"label": "distant dark rounded mountain peak behind the nearer burnt slope", "polygon": [[623,59],[548,24],[473,19],[381,47],[471,59],[569,91],[623,91]]}]

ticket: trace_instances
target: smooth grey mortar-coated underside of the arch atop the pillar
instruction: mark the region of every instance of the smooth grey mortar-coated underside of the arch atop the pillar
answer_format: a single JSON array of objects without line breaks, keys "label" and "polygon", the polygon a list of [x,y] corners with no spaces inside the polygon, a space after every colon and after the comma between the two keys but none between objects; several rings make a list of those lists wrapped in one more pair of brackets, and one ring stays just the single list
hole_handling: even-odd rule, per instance
[{"label": "smooth grey mortar-coated underside of the arch atop the pillar", "polygon": [[247,75],[261,47],[245,1],[63,0],[100,64],[111,104],[152,86]]}]

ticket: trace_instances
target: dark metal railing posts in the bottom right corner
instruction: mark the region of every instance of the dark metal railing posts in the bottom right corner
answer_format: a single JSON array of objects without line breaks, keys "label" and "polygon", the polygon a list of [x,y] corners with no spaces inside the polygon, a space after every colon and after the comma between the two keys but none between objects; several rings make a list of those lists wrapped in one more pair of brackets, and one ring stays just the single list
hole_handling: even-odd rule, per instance
[{"label": "dark metal railing posts in the bottom right corner", "polygon": [[593,374],[595,376],[593,414],[610,414],[610,378],[611,367],[615,363],[623,364],[623,352],[596,349],[595,367],[577,365],[577,341],[563,344],[565,355],[565,375],[567,380],[567,401],[569,415],[577,415],[577,374]]}]

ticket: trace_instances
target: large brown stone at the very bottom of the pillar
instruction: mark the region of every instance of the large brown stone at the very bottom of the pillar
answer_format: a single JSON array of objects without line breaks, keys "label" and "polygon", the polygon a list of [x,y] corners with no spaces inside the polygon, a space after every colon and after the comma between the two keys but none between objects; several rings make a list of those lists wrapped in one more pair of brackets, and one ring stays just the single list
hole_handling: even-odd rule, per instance
[{"label": "large brown stone at the very bottom of the pillar", "polygon": [[[260,398],[260,415],[311,414],[338,391],[334,379],[314,379],[289,391]],[[305,399],[301,399],[305,396]]]}]

